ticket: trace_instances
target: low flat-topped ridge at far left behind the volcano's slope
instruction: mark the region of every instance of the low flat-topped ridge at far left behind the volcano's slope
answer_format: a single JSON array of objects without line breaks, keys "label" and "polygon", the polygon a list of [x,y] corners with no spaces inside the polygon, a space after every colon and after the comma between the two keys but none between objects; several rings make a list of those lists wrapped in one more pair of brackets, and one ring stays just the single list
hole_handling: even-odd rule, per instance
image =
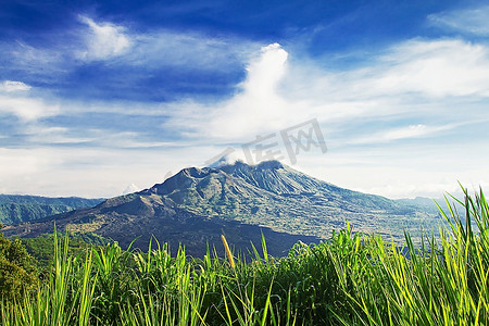
[{"label": "low flat-topped ridge at far left behind the volcano's slope", "polygon": [[0,223],[5,225],[39,220],[83,208],[92,208],[103,199],[78,197],[47,198],[38,196],[0,195]]}]

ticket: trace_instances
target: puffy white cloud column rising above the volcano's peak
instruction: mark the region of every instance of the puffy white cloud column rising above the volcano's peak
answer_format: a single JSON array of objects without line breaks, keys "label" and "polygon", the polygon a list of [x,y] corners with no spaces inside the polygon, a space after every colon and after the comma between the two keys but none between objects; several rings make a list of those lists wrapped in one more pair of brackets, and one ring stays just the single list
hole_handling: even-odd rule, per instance
[{"label": "puffy white cloud column rising above the volcano's peak", "polygon": [[[188,130],[187,136],[205,136],[211,141],[246,141],[271,130],[278,131],[311,118],[310,112],[297,110],[280,95],[280,83],[287,74],[288,52],[273,43],[253,55],[247,65],[247,77],[229,100],[214,104],[175,103],[175,114],[164,126]],[[172,106],[170,106],[172,108]],[[168,110],[173,111],[173,110]]]}]

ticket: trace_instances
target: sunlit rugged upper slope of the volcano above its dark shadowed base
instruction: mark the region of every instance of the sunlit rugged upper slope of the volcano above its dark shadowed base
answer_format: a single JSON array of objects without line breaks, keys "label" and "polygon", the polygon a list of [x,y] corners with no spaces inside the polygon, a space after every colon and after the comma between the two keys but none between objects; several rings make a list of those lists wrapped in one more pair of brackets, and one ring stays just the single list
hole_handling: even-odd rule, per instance
[{"label": "sunlit rugged upper slope of the volcano above its dark shadowed base", "polygon": [[275,230],[329,236],[350,221],[365,231],[399,234],[432,217],[413,205],[337,187],[279,162],[221,168],[186,168],[140,192],[170,198],[178,206],[206,216],[240,221]]}]

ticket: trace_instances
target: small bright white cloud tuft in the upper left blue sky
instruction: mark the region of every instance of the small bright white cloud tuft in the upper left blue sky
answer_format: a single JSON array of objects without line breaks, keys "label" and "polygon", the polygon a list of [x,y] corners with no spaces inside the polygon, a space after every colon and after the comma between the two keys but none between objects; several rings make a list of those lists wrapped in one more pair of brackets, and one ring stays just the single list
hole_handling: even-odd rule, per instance
[{"label": "small bright white cloud tuft in the upper left blue sky", "polygon": [[78,53],[83,60],[106,60],[125,53],[131,46],[131,41],[124,34],[122,26],[111,23],[96,23],[93,20],[79,16],[79,21],[86,24],[89,32],[85,35],[86,50]]}]

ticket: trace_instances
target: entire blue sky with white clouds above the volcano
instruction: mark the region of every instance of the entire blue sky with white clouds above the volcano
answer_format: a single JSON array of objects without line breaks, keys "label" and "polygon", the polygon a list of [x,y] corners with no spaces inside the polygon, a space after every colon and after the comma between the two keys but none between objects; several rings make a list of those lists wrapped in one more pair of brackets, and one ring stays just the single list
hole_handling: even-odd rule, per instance
[{"label": "entire blue sky with white clouds above the volcano", "polygon": [[[117,196],[258,136],[390,198],[489,185],[489,2],[66,2],[0,3],[0,193]],[[327,152],[292,161],[312,120]]]}]

